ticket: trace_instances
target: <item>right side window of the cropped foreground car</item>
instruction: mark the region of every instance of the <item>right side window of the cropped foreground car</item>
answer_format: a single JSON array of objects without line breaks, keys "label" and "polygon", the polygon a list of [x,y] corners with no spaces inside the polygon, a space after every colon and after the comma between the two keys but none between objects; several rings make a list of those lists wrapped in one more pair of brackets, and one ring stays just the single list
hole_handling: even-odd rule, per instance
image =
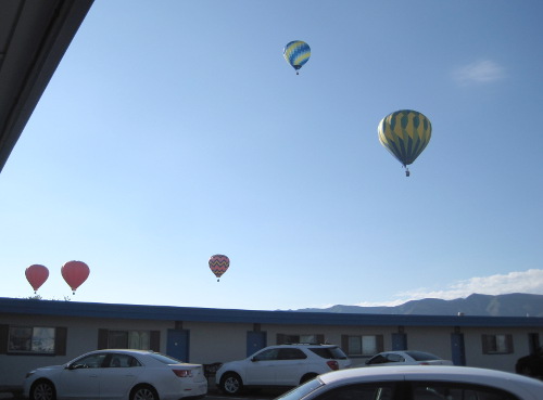
[{"label": "right side window of the cropped foreground car", "polygon": [[455,383],[417,383],[413,400],[518,400],[512,393],[491,387]]}]

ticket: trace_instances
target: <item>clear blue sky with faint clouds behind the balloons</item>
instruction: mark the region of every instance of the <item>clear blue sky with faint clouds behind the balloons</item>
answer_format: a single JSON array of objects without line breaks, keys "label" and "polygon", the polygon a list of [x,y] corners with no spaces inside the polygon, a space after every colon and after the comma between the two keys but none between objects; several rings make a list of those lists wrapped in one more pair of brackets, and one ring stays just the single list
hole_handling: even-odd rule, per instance
[{"label": "clear blue sky with faint clouds behind the balloons", "polygon": [[[543,3],[97,0],[0,175],[2,297],[543,294]],[[299,76],[291,40],[312,56]],[[424,113],[411,166],[377,138]],[[207,267],[230,258],[219,283]],[[61,267],[81,260],[76,295]]]}]

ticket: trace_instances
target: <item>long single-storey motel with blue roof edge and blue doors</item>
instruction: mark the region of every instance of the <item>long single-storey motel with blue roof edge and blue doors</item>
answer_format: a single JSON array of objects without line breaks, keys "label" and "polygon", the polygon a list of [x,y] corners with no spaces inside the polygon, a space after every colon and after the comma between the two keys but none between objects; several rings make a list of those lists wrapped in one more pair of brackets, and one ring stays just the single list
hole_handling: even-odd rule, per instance
[{"label": "long single-storey motel with blue roof edge and blue doors", "polygon": [[[140,306],[0,298],[0,390],[17,390],[38,366],[97,349],[151,349],[213,364],[285,343],[339,345],[353,366],[380,351],[420,350],[515,372],[539,347],[543,318],[383,315]],[[210,380],[212,383],[212,380]]]}]

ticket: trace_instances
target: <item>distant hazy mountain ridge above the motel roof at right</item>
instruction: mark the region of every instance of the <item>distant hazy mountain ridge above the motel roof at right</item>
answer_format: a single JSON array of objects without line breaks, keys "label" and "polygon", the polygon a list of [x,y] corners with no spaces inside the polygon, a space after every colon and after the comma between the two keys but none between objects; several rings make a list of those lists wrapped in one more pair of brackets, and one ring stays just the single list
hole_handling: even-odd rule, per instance
[{"label": "distant hazy mountain ridge above the motel roof at right", "polygon": [[490,317],[543,317],[543,295],[513,293],[509,295],[478,295],[441,300],[425,298],[394,307],[332,306],[305,308],[294,311],[338,312],[361,314],[417,314],[417,315],[490,315]]}]

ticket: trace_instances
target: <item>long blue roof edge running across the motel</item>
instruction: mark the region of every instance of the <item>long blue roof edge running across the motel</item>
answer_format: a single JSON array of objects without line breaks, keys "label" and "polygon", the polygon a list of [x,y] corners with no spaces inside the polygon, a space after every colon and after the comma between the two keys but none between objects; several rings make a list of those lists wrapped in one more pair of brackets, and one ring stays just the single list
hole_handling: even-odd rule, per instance
[{"label": "long blue roof edge running across the motel", "polygon": [[64,300],[33,300],[5,297],[0,297],[0,313],[129,320],[345,326],[543,326],[543,318],[536,317],[390,315],[336,312],[253,311]]}]

